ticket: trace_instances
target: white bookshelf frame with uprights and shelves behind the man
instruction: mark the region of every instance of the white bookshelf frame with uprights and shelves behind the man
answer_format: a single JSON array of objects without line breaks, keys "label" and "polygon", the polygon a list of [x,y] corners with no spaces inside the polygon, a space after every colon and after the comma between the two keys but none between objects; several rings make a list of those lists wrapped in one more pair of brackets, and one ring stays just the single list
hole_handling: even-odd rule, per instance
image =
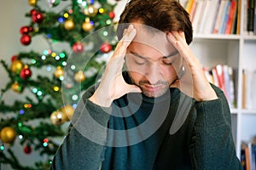
[{"label": "white bookshelf frame with uprights and shelves behind the man", "polygon": [[[231,120],[238,157],[241,142],[251,142],[256,136],[256,106],[253,109],[242,108],[242,71],[256,71],[256,35],[248,35],[244,31],[245,3],[246,0],[241,0],[240,35],[195,34],[189,45],[203,66],[211,68],[222,64],[236,69],[236,108],[231,108]],[[251,90],[256,94],[256,87]]]}]

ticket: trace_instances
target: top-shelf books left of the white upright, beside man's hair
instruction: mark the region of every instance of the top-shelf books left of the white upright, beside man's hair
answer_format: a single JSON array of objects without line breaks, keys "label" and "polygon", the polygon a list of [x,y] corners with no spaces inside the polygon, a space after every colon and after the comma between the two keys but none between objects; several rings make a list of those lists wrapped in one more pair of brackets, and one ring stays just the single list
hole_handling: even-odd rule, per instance
[{"label": "top-shelf books left of the white upright, beside man's hair", "polygon": [[183,0],[194,32],[239,34],[241,0]]}]

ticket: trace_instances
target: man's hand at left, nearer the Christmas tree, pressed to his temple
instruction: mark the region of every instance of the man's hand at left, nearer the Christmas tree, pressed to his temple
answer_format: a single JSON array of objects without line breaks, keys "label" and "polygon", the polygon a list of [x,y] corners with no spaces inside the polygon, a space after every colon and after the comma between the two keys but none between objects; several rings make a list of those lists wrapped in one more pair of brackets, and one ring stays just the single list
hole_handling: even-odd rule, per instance
[{"label": "man's hand at left, nearer the Christmas tree, pressed to his temple", "polygon": [[126,49],[136,34],[137,31],[132,25],[124,31],[123,38],[117,44],[113,56],[108,61],[106,70],[102,76],[102,82],[90,97],[90,101],[94,104],[109,107],[114,99],[119,99],[125,94],[142,92],[141,88],[136,85],[127,84],[122,76]]}]

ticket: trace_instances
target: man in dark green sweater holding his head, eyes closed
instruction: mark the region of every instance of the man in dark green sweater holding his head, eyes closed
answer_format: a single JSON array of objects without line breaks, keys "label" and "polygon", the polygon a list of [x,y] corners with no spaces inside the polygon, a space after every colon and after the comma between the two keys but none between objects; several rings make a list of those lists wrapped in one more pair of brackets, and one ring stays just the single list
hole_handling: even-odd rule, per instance
[{"label": "man in dark green sweater holding his head, eyes closed", "polygon": [[51,169],[241,169],[229,106],[189,49],[183,7],[131,0],[117,32],[102,81],[79,102]]}]

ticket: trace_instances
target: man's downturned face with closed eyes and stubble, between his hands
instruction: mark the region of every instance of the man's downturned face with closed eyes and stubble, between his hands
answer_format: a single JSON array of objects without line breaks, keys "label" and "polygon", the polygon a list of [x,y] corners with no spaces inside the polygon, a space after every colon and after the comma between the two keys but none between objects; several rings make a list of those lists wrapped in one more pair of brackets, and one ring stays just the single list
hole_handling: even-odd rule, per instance
[{"label": "man's downturned face with closed eyes and stubble, between his hands", "polygon": [[126,69],[131,81],[142,89],[144,95],[160,97],[177,80],[182,59],[167,40],[166,33],[147,31],[136,24],[133,26],[137,36],[127,48]]}]

